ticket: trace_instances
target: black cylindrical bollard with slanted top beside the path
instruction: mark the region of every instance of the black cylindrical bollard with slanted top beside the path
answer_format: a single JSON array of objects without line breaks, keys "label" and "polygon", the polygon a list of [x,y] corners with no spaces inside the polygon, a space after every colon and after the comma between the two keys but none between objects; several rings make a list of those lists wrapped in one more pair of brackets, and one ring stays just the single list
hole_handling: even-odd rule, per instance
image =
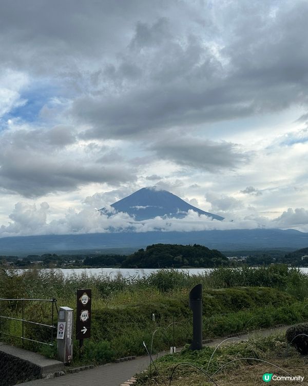
[{"label": "black cylindrical bollard with slanted top beside the path", "polygon": [[202,348],[202,284],[197,284],[189,292],[189,308],[192,310],[191,350]]}]

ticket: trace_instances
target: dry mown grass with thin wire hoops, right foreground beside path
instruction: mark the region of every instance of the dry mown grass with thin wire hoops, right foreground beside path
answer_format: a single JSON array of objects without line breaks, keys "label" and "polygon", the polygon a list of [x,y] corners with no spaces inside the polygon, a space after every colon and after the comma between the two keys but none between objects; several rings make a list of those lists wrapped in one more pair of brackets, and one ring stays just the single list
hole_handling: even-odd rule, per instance
[{"label": "dry mown grass with thin wire hoops, right foreground beside path", "polygon": [[[277,376],[301,375],[306,378],[307,364],[308,359],[290,347],[284,335],[276,335],[225,344],[217,349],[204,347],[195,352],[185,347],[179,354],[158,359],[151,369],[138,376],[137,384],[163,386],[169,385],[170,379],[171,386],[215,384],[210,381],[210,377],[219,386],[254,386],[264,383],[264,373]],[[284,384],[297,383],[290,381]],[[305,380],[300,384],[307,382]]]}]

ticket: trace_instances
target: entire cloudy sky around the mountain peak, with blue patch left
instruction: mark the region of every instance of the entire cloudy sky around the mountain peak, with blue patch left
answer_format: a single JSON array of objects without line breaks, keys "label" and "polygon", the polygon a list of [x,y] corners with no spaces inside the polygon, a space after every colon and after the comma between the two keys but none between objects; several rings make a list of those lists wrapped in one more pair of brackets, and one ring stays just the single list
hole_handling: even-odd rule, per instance
[{"label": "entire cloudy sky around the mountain peak, with blue patch left", "polygon": [[[2,0],[0,237],[308,232],[307,19],[300,0]],[[154,185],[226,219],[95,209]]]}]

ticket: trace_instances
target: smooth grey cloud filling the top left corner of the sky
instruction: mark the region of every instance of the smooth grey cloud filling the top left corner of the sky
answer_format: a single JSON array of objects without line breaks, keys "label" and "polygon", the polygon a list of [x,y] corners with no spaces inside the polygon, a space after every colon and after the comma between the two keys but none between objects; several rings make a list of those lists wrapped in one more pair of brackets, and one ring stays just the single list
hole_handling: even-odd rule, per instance
[{"label": "smooth grey cloud filling the top left corner of the sky", "polygon": [[101,58],[124,48],[131,24],[147,13],[148,4],[142,0],[4,0],[0,58],[17,68],[27,67],[30,73],[73,71],[79,68],[78,60]]}]

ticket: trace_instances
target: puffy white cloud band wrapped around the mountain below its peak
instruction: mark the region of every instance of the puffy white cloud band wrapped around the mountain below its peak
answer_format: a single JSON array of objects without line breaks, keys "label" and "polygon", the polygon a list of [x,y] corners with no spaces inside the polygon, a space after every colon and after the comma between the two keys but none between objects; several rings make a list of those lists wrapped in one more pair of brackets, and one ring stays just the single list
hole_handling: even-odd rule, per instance
[{"label": "puffy white cloud band wrapped around the mountain below its peak", "polygon": [[[281,216],[270,220],[252,212],[249,216],[228,216],[223,221],[213,220],[205,215],[198,215],[188,210],[184,218],[155,217],[136,221],[127,213],[115,213],[108,206],[109,215],[97,209],[85,207],[82,210],[69,208],[64,217],[49,221],[52,208],[43,202],[36,204],[19,202],[10,215],[10,223],[0,227],[0,236],[43,235],[43,234],[86,234],[108,232],[150,232],[150,231],[205,231],[236,230],[256,228],[295,228],[308,231],[308,210],[303,208],[288,209]],[[112,213],[113,212],[113,213]]]}]

